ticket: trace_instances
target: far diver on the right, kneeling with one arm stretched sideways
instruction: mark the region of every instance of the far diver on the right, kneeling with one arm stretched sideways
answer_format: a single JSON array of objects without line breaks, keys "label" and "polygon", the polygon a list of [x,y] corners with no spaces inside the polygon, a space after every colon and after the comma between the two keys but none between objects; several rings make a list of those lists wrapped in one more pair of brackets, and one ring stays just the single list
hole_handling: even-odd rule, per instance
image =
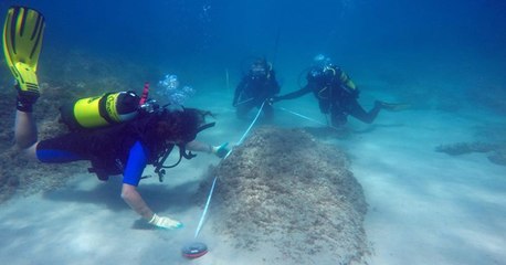
[{"label": "far diver on the right, kneeling with one arm stretched sideways", "polygon": [[293,99],[313,92],[318,99],[320,112],[330,113],[334,127],[344,126],[348,115],[362,123],[371,124],[381,109],[399,110],[405,106],[376,100],[372,109],[366,112],[358,103],[359,89],[357,86],[340,67],[334,65],[330,59],[323,54],[314,57],[314,65],[309,68],[306,78],[307,84],[303,88],[275,96],[270,102]]}]

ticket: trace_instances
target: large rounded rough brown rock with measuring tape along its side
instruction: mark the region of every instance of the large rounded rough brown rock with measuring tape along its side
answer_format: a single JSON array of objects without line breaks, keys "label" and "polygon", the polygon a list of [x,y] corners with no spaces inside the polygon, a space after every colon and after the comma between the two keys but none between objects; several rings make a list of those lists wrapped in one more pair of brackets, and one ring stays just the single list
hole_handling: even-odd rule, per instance
[{"label": "large rounded rough brown rock with measuring tape along its side", "polygon": [[[259,128],[212,169],[213,229],[238,250],[272,246],[292,264],[315,255],[333,264],[361,263],[369,253],[367,203],[348,167],[344,152],[303,130]],[[201,186],[200,198],[209,187]]]}]

